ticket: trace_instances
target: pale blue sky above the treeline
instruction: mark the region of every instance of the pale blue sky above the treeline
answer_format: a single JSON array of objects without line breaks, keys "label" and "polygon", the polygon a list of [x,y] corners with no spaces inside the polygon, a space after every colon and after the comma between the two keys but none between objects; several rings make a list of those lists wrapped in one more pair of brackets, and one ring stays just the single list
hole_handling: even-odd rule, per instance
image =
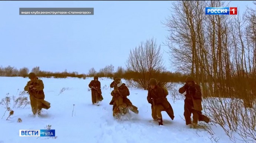
[{"label": "pale blue sky above the treeline", "polygon": [[[130,49],[141,41],[154,37],[163,45],[168,32],[161,21],[170,15],[171,3],[0,1],[0,65],[79,73],[109,64],[125,67]],[[244,11],[246,4],[252,1],[232,1],[230,6]],[[19,15],[20,7],[94,7],[94,15]]]}]

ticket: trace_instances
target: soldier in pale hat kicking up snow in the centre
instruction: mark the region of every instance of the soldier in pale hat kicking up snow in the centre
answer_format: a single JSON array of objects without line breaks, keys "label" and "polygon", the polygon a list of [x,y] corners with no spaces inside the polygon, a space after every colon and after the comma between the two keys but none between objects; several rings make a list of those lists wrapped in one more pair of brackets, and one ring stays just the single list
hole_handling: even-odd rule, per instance
[{"label": "soldier in pale hat kicking up snow in the centre", "polygon": [[127,109],[130,109],[132,112],[138,114],[138,108],[132,105],[132,102],[127,98],[127,96],[130,95],[128,87],[122,83],[120,78],[115,79],[115,84],[116,86],[111,92],[111,95],[115,97],[113,105],[113,116],[118,115],[120,112],[126,114],[128,112]]}]

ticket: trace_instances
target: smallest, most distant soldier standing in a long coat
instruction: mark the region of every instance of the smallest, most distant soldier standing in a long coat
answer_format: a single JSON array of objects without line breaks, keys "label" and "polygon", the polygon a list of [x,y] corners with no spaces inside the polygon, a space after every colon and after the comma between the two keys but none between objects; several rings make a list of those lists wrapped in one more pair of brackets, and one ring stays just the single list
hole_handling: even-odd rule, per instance
[{"label": "smallest, most distant soldier standing in a long coat", "polygon": [[98,80],[98,76],[95,76],[93,80],[89,83],[89,87],[92,91],[92,104],[97,104],[103,100],[101,92],[101,82]]}]

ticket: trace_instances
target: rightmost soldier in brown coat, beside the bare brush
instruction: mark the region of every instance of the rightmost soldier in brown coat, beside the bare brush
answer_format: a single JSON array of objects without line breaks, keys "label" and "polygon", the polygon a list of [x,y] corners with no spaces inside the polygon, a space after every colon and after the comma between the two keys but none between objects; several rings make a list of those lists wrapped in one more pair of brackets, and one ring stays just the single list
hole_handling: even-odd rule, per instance
[{"label": "rightmost soldier in brown coat, beside the bare brush", "polygon": [[[179,89],[179,93],[183,94],[186,91],[186,99],[184,100],[184,117],[186,125],[190,128],[197,128],[199,121],[209,122],[209,118],[202,114],[202,93],[201,87],[194,82],[194,78],[188,76],[186,84]],[[191,114],[193,113],[193,121],[191,123]]]}]

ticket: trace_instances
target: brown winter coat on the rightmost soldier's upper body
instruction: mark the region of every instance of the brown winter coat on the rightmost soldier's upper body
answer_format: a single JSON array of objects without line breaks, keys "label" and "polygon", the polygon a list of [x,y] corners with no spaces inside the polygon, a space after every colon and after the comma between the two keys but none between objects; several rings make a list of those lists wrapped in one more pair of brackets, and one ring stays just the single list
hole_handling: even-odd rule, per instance
[{"label": "brown winter coat on the rightmost soldier's upper body", "polygon": [[202,93],[201,93],[201,87],[197,84],[194,84],[194,87],[196,88],[196,92],[192,93],[189,89],[185,90],[184,86],[179,89],[179,93],[183,94],[186,91],[186,99],[188,102],[193,103],[192,109],[195,109],[197,111],[202,111]]}]

